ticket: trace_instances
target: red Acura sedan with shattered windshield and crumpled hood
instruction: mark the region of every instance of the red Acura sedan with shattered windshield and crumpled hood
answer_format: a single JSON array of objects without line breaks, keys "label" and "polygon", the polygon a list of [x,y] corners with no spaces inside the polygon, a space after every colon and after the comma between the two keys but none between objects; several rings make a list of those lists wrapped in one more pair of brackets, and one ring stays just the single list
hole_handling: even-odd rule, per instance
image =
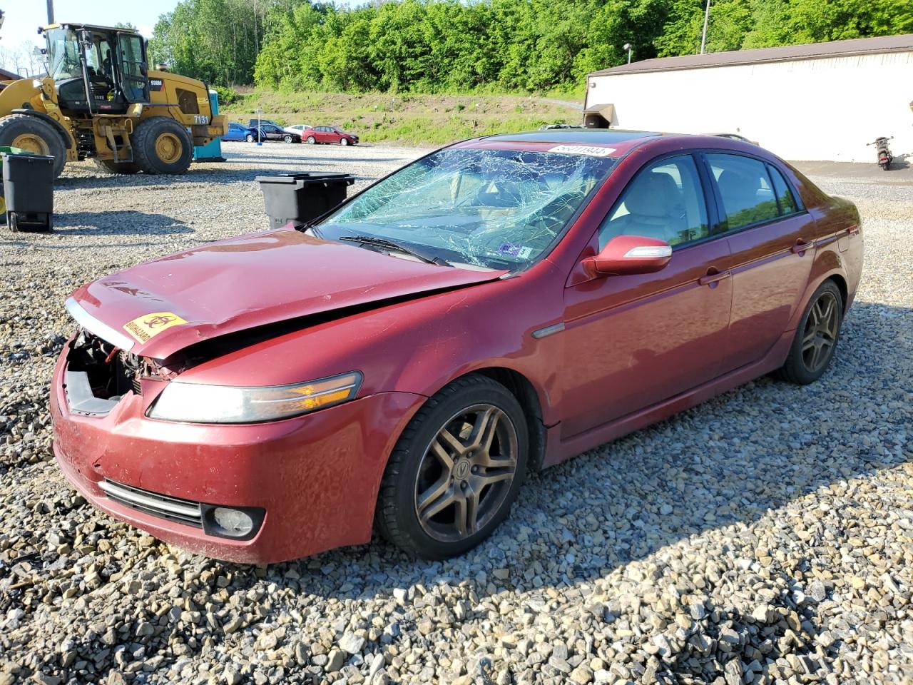
[{"label": "red Acura sedan with shattered windshield and crumpled hood", "polygon": [[744,142],[564,130],[451,145],[306,226],[98,279],[54,449],[100,509],[267,563],[481,542],[527,473],[834,357],[855,206]]}]

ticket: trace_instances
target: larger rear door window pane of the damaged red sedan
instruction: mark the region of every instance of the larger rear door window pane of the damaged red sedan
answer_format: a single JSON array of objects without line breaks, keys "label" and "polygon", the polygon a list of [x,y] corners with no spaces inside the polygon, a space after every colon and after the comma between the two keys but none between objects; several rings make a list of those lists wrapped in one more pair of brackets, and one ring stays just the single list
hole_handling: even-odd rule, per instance
[{"label": "larger rear door window pane of the damaged red sedan", "polygon": [[708,154],[729,231],[780,216],[763,162],[739,154]]}]

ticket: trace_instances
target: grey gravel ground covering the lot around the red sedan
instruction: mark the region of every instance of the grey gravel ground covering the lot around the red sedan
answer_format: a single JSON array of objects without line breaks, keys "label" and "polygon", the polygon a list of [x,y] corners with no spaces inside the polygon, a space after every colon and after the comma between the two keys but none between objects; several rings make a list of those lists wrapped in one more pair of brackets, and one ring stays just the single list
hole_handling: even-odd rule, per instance
[{"label": "grey gravel ground covering the lot around the red sedan", "polygon": [[175,179],[76,165],[52,235],[0,233],[0,685],[913,682],[909,169],[806,166],[866,220],[822,381],[764,378],[532,477],[462,558],[375,541],[224,564],[70,490],[47,412],[70,290],[267,227],[264,171],[361,184],[421,152],[228,143]]}]

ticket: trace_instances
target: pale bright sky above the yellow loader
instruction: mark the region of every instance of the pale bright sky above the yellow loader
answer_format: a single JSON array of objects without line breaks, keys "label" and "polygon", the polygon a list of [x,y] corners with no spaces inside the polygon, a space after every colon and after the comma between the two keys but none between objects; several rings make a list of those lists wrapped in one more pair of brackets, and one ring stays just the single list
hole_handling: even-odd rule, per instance
[{"label": "pale bright sky above the yellow loader", "polygon": [[[113,26],[130,22],[144,37],[152,37],[159,16],[171,12],[178,0],[53,0],[54,19]],[[5,12],[0,47],[16,48],[26,42],[44,46],[37,27],[47,24],[47,0],[0,0]]]}]

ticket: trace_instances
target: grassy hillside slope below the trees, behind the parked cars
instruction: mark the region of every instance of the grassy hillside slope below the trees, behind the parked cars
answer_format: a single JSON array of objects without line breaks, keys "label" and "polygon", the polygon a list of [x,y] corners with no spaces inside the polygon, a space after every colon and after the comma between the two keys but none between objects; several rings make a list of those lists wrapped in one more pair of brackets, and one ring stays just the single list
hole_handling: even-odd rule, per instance
[{"label": "grassy hillside slope below the trees, behind the parked cars", "polygon": [[[478,108],[476,107],[478,104]],[[579,110],[515,95],[390,95],[254,90],[221,109],[232,121],[256,117],[284,124],[339,126],[362,142],[439,145],[477,135],[580,123]]]}]

